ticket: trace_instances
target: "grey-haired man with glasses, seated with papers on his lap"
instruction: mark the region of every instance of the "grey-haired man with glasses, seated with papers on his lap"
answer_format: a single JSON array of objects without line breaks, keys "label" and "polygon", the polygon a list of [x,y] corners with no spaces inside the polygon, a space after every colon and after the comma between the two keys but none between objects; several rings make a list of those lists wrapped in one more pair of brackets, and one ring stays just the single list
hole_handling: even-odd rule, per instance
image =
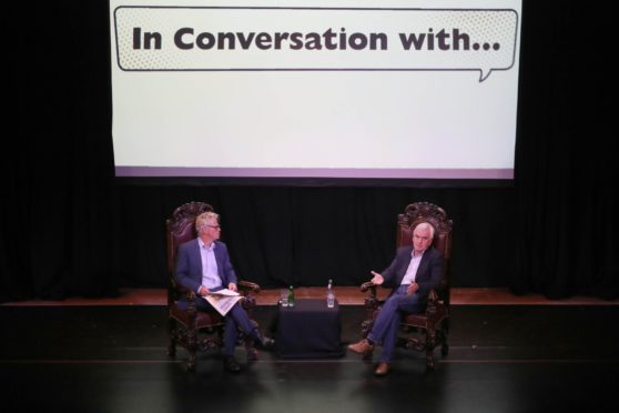
[{"label": "grey-haired man with glasses, seated with papers on his lap", "polygon": [[[174,275],[181,285],[197,293],[199,310],[210,310],[212,306],[204,296],[222,289],[236,291],[236,273],[230,262],[226,245],[219,241],[222,231],[219,214],[200,214],[195,219],[195,230],[197,238],[179,245]],[[239,302],[226,313],[224,320],[224,366],[229,371],[241,370],[234,357],[239,329],[254,338],[262,347],[273,346],[274,341],[262,335]]]}]

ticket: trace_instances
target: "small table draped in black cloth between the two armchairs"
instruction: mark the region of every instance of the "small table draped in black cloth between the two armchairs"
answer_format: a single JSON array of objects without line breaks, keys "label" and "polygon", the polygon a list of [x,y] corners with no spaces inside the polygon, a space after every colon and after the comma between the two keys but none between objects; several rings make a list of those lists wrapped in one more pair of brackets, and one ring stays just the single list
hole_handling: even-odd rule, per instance
[{"label": "small table draped in black cloth between the two armchairs", "polygon": [[298,299],[295,306],[280,306],[275,321],[276,354],[282,359],[327,359],[344,354],[339,334],[339,304]]}]

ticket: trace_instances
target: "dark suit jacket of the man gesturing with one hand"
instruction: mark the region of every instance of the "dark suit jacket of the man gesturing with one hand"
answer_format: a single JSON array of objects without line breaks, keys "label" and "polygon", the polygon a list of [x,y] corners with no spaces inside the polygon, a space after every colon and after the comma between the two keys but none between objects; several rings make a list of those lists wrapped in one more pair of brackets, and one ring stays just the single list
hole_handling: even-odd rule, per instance
[{"label": "dark suit jacket of the man gesturing with one hand", "polygon": [[[412,245],[402,246],[396,251],[394,261],[383,271],[383,278],[385,279],[384,285],[394,288],[394,291],[399,286],[402,279],[404,279],[406,274],[408,264],[410,264],[412,252]],[[419,294],[420,300],[425,300],[432,289],[440,285],[443,281],[444,263],[445,259],[443,253],[434,246],[428,248],[424,252],[422,262],[419,262],[419,268],[417,269],[417,274],[415,275],[415,282],[419,284],[417,294]]]}]

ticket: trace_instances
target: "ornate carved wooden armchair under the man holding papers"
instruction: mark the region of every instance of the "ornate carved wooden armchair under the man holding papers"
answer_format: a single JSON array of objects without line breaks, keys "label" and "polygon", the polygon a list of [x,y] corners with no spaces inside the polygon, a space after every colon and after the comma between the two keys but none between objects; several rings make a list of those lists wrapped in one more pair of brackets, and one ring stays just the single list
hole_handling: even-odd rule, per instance
[{"label": "ornate carved wooden armchair under the man holding papers", "polygon": [[[223,345],[224,320],[215,310],[211,312],[197,311],[195,306],[195,292],[184,289],[174,280],[174,265],[176,248],[183,242],[196,236],[195,218],[203,212],[213,211],[204,202],[189,202],[174,210],[172,218],[166,220],[168,241],[168,330],[170,343],[168,354],[176,355],[176,344],[189,352],[187,370],[195,370],[196,352],[220,349]],[[253,293],[260,292],[260,285],[239,281],[239,292],[243,295],[242,305],[252,319],[252,309],[255,306]],[[185,302],[179,305],[181,298]],[[253,319],[252,319],[253,320]],[[254,322],[255,323],[255,322]],[[247,359],[255,360],[257,351],[254,340],[245,334],[240,334],[240,341],[245,344]]]}]

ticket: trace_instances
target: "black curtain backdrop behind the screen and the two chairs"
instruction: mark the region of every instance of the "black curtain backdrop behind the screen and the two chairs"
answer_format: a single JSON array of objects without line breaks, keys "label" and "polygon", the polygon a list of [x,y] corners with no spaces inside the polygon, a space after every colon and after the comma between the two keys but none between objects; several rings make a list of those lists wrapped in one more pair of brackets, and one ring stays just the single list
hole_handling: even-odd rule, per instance
[{"label": "black curtain backdrop behind the screen and the two chairs", "polygon": [[165,286],[165,219],[189,201],[222,214],[237,273],[263,286],[366,281],[397,214],[429,201],[455,223],[454,286],[618,298],[610,13],[555,3],[524,3],[516,180],[485,188],[122,183],[108,2],[7,6],[0,301]]}]

